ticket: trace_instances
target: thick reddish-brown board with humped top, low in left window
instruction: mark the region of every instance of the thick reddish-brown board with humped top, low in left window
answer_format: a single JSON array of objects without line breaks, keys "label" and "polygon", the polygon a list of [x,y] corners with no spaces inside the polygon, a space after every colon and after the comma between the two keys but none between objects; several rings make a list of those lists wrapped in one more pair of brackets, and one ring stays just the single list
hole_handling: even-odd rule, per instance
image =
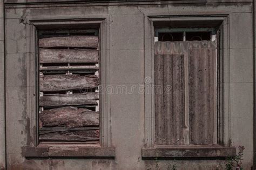
[{"label": "thick reddish-brown board with humped top, low in left window", "polygon": [[60,107],[39,113],[43,127],[99,126],[99,113],[87,108]]}]

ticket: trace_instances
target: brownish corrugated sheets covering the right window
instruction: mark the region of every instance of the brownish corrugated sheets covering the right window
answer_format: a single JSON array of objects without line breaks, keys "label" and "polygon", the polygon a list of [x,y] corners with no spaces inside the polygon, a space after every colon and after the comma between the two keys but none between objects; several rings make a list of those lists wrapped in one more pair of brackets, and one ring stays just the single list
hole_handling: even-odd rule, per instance
[{"label": "brownish corrugated sheets covering the right window", "polygon": [[215,42],[156,42],[157,145],[217,143]]}]

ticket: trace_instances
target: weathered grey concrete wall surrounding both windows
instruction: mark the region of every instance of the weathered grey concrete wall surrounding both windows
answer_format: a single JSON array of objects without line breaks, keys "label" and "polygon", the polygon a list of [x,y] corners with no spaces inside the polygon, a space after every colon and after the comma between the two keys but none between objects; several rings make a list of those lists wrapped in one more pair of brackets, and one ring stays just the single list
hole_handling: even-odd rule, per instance
[{"label": "weathered grey concrete wall surrounding both windows", "polygon": [[[2,1],[0,1],[2,2]],[[8,1],[6,1],[8,2]],[[23,2],[23,1],[18,1]],[[2,4],[2,3],[1,3]],[[136,89],[132,94],[111,94],[112,146],[116,147],[114,160],[104,159],[25,159],[22,147],[30,140],[30,118],[27,113],[26,97],[27,70],[29,58],[26,54],[26,19],[31,17],[86,18],[106,16],[110,28],[110,84],[114,87],[126,86],[127,90],[144,85],[144,14],[229,14],[230,80],[221,82],[230,86],[230,138],[232,146],[245,146],[244,166],[253,164],[253,30],[252,3],[214,4],[153,4],[147,5],[105,5],[69,6],[44,8],[8,8],[6,6],[6,140],[7,165],[9,169],[167,169],[178,165],[178,169],[223,169],[223,160],[142,160],[141,149],[145,144],[144,93]],[[39,5],[40,7],[40,5]],[[0,8],[2,9],[2,7]],[[0,10],[1,11],[1,10]],[[2,17],[3,18],[3,17]],[[24,22],[21,22],[21,18]],[[1,21],[1,15],[0,15]],[[0,24],[1,25],[1,24]],[[2,28],[0,28],[2,29]],[[0,33],[1,35],[1,33]],[[1,38],[1,37],[0,37]],[[0,45],[1,45],[0,40]],[[2,47],[0,47],[2,49]],[[1,50],[0,50],[1,51]],[[3,53],[0,53],[1,68]],[[225,67],[226,68],[226,67]],[[2,71],[3,69],[1,69]],[[3,83],[3,71],[0,83]],[[0,86],[0,120],[3,120],[3,85]],[[224,93],[227,92],[224,89]],[[34,120],[32,120],[34,121]],[[0,124],[0,135],[4,126]],[[225,125],[228,126],[228,125]],[[4,140],[0,139],[0,160],[4,162]],[[1,163],[0,162],[0,163]]]}]

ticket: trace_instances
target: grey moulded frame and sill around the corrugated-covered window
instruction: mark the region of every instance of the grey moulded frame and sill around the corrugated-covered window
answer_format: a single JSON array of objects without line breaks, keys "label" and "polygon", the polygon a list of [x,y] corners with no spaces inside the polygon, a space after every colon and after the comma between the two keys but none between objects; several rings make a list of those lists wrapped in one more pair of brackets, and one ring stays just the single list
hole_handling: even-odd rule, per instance
[{"label": "grey moulded frame and sill around the corrugated-covered window", "polygon": [[[230,87],[225,86],[223,82],[229,82],[229,64],[223,62],[223,60],[229,61],[230,52],[229,47],[229,27],[228,27],[228,13],[223,15],[166,15],[165,13],[158,15],[147,15],[145,16],[145,147],[142,148],[142,157],[177,157],[177,154],[165,154],[168,151],[180,152],[184,146],[165,146],[165,152],[162,152],[163,148],[154,144],[154,89],[151,88],[154,85],[154,27],[157,24],[168,25],[170,27],[179,27],[179,25],[185,25],[189,23],[209,23],[207,27],[219,28],[220,30],[220,44],[218,44],[218,63],[217,63],[217,75],[218,75],[218,145],[211,146],[211,148],[222,149],[222,151],[227,150],[228,152],[223,152],[222,155],[214,154],[211,157],[229,157],[235,155],[235,148],[231,147],[230,143]],[[169,24],[167,24],[169,23]],[[176,25],[177,24],[177,25]],[[165,25],[165,26],[166,26]],[[194,25],[197,28],[203,27],[203,25]],[[205,26],[205,25],[204,25]],[[149,82],[150,79],[150,82]],[[147,81],[146,81],[147,80]],[[201,146],[193,146],[198,153],[201,152],[212,152],[214,149],[204,149]],[[185,149],[187,152],[180,152],[180,157],[185,157],[186,154],[190,152],[190,149]],[[161,151],[161,152],[160,152]],[[163,150],[164,151],[164,150]],[[156,154],[157,153],[157,154]],[[160,154],[163,153],[163,154]],[[217,153],[217,152],[216,152]],[[230,153],[230,154],[228,154]],[[206,154],[201,154],[200,157],[207,157]]]}]

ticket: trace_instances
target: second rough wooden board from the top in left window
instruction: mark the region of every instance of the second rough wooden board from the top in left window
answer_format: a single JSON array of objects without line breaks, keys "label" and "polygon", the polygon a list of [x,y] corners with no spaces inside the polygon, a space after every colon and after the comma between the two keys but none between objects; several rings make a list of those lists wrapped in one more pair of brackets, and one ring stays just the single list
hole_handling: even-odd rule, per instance
[{"label": "second rough wooden board from the top in left window", "polygon": [[98,63],[98,50],[39,49],[40,63]]}]

